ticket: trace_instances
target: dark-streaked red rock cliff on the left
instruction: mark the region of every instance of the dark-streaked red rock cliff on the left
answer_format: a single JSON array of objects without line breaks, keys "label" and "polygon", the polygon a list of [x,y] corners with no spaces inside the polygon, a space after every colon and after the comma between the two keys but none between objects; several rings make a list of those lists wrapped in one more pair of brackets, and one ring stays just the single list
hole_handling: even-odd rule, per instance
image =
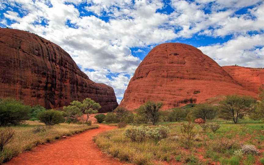
[{"label": "dark-streaked red rock cliff on the left", "polygon": [[99,112],[118,106],[112,87],[94,83],[58,45],[37,35],[0,28],[0,97],[58,108],[90,97]]}]

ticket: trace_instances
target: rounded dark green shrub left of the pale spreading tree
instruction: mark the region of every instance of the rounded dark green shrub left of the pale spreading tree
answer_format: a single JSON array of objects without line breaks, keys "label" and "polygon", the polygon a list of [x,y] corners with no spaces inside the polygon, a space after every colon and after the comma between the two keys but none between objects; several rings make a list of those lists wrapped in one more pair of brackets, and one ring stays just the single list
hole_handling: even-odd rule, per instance
[{"label": "rounded dark green shrub left of the pale spreading tree", "polygon": [[55,110],[42,111],[38,114],[38,118],[46,125],[55,125],[64,122],[62,112]]}]

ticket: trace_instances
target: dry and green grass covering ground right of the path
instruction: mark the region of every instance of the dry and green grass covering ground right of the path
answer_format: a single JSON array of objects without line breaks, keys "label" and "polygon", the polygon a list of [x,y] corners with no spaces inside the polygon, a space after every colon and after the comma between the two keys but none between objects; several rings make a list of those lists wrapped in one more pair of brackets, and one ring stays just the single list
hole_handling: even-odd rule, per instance
[{"label": "dry and green grass covering ground right of the path", "polygon": [[[221,127],[214,134],[211,130],[204,132],[196,124],[194,130],[197,133],[197,137],[190,149],[186,149],[179,138],[175,138],[180,136],[182,124],[186,123],[186,121],[159,122],[158,125],[165,125],[170,128],[170,134],[168,138],[163,139],[157,144],[149,139],[142,143],[132,142],[123,136],[125,128],[99,134],[94,138],[94,141],[98,147],[110,155],[139,165],[170,161],[183,161],[185,162],[184,164],[206,164],[206,162],[215,161],[227,165],[248,165],[255,162],[255,157],[252,155],[244,154],[242,159],[235,156],[233,152],[242,143],[253,144],[256,148],[262,148],[264,145],[264,135],[261,132],[261,130],[264,130],[262,121],[241,119],[238,124],[222,119],[207,121],[208,124],[211,122],[218,123]],[[236,144],[234,143],[234,146],[230,148],[225,148],[226,146],[222,147],[222,145],[219,145],[220,148],[215,148],[217,146],[215,142],[223,138],[230,139],[230,142],[234,140]],[[197,152],[198,149],[202,149],[202,152]],[[203,156],[204,162],[198,159],[198,153]],[[260,157],[258,157],[259,159]]]}]

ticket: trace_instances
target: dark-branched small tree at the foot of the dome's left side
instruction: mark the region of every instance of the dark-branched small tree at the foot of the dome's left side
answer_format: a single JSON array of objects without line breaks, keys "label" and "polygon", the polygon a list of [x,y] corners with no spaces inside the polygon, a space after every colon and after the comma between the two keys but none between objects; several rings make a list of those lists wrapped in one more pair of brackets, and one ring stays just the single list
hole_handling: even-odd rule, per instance
[{"label": "dark-branched small tree at the foot of the dome's left side", "polygon": [[[160,117],[160,108],[162,103],[154,103],[152,101],[147,101],[144,105],[141,105],[138,111],[146,118],[152,122],[152,125],[155,125],[159,121]],[[138,112],[137,111],[137,112]]]}]

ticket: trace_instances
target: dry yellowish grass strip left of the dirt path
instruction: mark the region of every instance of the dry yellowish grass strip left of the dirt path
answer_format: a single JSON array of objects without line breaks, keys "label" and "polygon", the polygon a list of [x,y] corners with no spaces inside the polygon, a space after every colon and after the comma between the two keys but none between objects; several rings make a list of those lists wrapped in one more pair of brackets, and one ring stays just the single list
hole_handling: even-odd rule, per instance
[{"label": "dry yellowish grass strip left of the dirt path", "polygon": [[[34,133],[33,130],[37,127],[45,128],[46,131]],[[83,126],[61,123],[60,125],[46,128],[46,126],[39,121],[26,121],[23,125],[12,126],[11,128],[15,131],[15,137],[4,147],[3,152],[0,152],[0,164],[10,160],[13,156],[22,153],[23,151],[31,150],[38,144],[52,142],[62,136],[70,136],[75,133],[98,127],[98,125]],[[4,127],[1,127],[0,129],[4,129]]]}]

